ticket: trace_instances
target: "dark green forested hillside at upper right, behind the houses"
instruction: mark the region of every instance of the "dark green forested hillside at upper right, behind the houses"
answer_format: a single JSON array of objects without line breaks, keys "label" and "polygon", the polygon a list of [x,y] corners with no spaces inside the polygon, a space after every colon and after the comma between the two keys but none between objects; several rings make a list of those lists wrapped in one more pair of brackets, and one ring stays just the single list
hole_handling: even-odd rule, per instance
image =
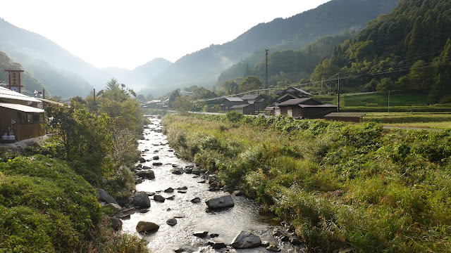
[{"label": "dark green forested hillside at upper right, behind the houses", "polygon": [[336,46],[311,80],[340,72],[344,91],[416,91],[428,94],[429,103],[447,103],[451,100],[450,34],[450,1],[402,0],[390,14],[379,16]]}]

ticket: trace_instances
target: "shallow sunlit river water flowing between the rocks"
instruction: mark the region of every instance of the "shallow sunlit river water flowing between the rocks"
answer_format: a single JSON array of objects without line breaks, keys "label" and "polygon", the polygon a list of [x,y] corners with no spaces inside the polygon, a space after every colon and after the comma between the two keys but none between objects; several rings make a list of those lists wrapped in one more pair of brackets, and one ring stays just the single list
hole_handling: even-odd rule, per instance
[{"label": "shallow sunlit river water flowing between the rocks", "polygon": [[[254,231],[264,241],[276,241],[280,252],[304,252],[302,247],[295,247],[290,242],[281,242],[273,237],[275,226],[268,223],[268,217],[259,214],[259,205],[248,200],[246,197],[232,195],[235,206],[222,209],[221,211],[209,211],[204,200],[218,192],[209,191],[207,183],[199,183],[203,179],[194,174],[175,175],[171,173],[173,166],[186,167],[193,165],[191,162],[180,160],[174,151],[168,146],[166,136],[161,134],[161,122],[155,117],[149,117],[151,124],[144,129],[146,140],[140,141],[139,148],[142,157],[149,162],[142,163],[143,166],[151,167],[155,173],[155,179],[144,180],[138,183],[138,191],[157,193],[163,197],[173,196],[173,200],[166,199],[165,202],[155,202],[151,198],[151,207],[147,213],[135,213],[130,219],[123,219],[123,231],[144,238],[149,242],[148,247],[152,252],[174,252],[175,249],[184,249],[183,252],[267,252],[265,247],[254,249],[213,249],[207,245],[211,233],[218,234],[217,239],[226,245],[240,231]],[[144,151],[147,150],[147,151]],[[159,160],[152,160],[159,156]],[[154,166],[154,162],[162,165]],[[187,190],[173,193],[164,193],[167,188],[180,188],[186,186]],[[201,202],[192,203],[194,197],[199,197]],[[166,220],[175,218],[178,223],[175,226],[166,224]],[[160,226],[156,233],[142,235],[136,232],[139,221],[152,221]],[[195,231],[208,231],[206,238],[197,238],[192,235]]]}]

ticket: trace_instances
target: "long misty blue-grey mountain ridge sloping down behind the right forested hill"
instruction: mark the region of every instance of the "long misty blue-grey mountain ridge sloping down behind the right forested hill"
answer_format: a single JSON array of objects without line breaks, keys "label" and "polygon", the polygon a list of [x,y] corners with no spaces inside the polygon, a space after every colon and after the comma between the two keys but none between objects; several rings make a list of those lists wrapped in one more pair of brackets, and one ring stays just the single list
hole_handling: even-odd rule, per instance
[{"label": "long misty blue-grey mountain ridge sloping down behind the right forested hill", "polygon": [[[260,23],[233,41],[211,45],[180,58],[148,84],[154,94],[187,86],[213,86],[223,70],[255,51],[252,66],[264,58],[266,44],[271,50],[300,49],[320,37],[360,30],[366,22],[388,13],[397,0],[333,0],[291,18]],[[244,71],[244,70],[243,70]]]}]

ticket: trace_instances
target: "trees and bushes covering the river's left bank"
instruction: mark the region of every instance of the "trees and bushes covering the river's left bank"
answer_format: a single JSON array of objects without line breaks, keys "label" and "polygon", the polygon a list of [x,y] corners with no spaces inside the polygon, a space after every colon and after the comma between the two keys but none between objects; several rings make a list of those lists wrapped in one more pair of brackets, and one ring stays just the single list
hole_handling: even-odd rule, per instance
[{"label": "trees and bushes covering the river's left bank", "polygon": [[135,190],[147,119],[132,94],[112,79],[96,103],[46,108],[44,145],[0,150],[0,252],[149,252],[99,202],[104,190],[117,200]]}]

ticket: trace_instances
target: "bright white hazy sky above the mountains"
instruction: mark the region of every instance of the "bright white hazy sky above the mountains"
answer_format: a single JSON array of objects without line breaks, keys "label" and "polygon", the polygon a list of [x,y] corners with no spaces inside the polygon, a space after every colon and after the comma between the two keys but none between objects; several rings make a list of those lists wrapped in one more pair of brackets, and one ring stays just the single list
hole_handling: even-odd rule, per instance
[{"label": "bright white hazy sky above the mountains", "polygon": [[175,62],[254,25],[330,0],[1,0],[0,18],[41,34],[95,67]]}]

